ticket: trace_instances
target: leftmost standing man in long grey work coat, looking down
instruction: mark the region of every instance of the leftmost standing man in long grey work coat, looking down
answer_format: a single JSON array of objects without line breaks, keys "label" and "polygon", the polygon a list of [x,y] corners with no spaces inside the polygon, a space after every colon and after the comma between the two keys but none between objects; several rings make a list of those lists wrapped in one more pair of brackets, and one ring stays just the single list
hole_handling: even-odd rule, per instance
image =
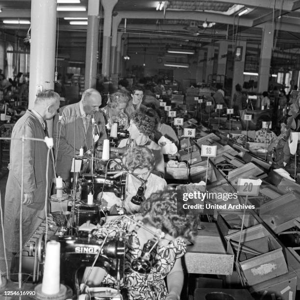
[{"label": "leftmost standing man in long grey work coat, looking down", "polygon": [[[20,247],[20,199],[22,175],[22,136],[45,139],[46,120],[59,108],[59,95],[46,90],[38,94],[32,110],[27,110],[12,131],[9,174],[5,190],[4,234],[6,249],[18,252]],[[22,244],[29,240],[45,218],[46,166],[48,146],[42,141],[24,142],[24,194],[22,206]],[[53,168],[49,158],[48,195],[50,195]]]}]

